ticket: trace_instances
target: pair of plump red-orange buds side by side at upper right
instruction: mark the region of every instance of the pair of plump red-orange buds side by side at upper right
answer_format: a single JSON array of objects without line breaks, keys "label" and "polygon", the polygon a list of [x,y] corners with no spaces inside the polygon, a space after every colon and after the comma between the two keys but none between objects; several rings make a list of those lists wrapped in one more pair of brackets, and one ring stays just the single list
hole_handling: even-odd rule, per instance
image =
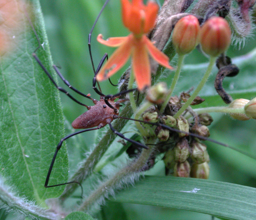
[{"label": "pair of plump red-orange buds side by side at upper right", "polygon": [[194,15],[187,15],[174,26],[172,42],[179,55],[190,53],[200,43],[206,54],[219,56],[230,45],[231,30],[221,17],[211,17],[200,27]]}]

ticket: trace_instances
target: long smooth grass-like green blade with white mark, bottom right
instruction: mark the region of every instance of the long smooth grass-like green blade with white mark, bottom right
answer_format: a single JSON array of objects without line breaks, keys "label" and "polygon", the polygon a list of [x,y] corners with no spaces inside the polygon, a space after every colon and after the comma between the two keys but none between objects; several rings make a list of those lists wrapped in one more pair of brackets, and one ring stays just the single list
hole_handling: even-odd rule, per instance
[{"label": "long smooth grass-like green blade with white mark, bottom right", "polygon": [[232,220],[251,220],[256,216],[255,188],[212,180],[146,176],[112,200],[185,209]]}]

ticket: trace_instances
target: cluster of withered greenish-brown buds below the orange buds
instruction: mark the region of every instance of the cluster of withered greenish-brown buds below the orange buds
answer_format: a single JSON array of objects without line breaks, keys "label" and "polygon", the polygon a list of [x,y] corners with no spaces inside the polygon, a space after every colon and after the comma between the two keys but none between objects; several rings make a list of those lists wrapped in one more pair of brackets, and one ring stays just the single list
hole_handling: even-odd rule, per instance
[{"label": "cluster of withered greenish-brown buds below the orange buds", "polygon": [[[159,90],[161,91],[161,89]],[[192,122],[188,122],[183,116],[177,119],[173,117],[189,97],[189,94],[184,93],[180,97],[171,97],[163,114],[159,113],[161,104],[152,105],[143,113],[142,118],[144,121],[159,122],[180,131],[174,132],[161,126],[154,126],[155,134],[159,140],[156,152],[165,153],[163,161],[167,175],[173,173],[174,176],[207,179],[209,177],[209,155],[206,145],[201,143],[198,138],[191,137],[190,133],[202,136],[202,139],[209,137],[210,133],[207,126],[213,121],[212,117],[206,113],[199,115],[192,113],[194,120],[196,118]],[[196,100],[201,100],[201,98],[197,97]],[[148,125],[143,126],[147,129]]]}]

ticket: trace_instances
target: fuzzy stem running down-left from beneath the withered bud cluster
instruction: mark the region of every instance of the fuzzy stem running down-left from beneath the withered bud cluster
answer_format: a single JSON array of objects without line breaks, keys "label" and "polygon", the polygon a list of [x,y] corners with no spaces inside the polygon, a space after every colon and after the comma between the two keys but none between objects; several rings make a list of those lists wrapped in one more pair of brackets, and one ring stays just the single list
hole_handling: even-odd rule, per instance
[{"label": "fuzzy stem running down-left from beneath the withered bud cluster", "polygon": [[[149,143],[155,143],[155,139],[148,140]],[[143,167],[147,163],[152,151],[154,150],[153,146],[149,146],[149,149],[143,149],[138,158],[136,158],[131,164],[128,164],[125,168],[119,170],[111,179],[108,179],[100,187],[98,187],[83,204],[79,207],[79,211],[87,211],[94,205],[95,202],[100,200],[103,197],[107,197],[109,193],[113,192],[118,188],[122,188],[125,184],[133,183],[130,179],[133,179],[133,176],[138,172],[143,170]],[[131,178],[126,178],[126,177]]]}]

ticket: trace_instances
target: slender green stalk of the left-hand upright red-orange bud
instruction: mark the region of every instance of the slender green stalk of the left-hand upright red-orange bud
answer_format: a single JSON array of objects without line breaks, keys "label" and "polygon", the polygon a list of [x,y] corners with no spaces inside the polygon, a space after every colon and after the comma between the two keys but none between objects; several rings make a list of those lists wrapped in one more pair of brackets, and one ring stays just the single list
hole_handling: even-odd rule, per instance
[{"label": "slender green stalk of the left-hand upright red-orange bud", "polygon": [[161,106],[161,109],[160,109],[160,112],[163,113],[163,111],[165,110],[165,107],[166,105],[168,104],[171,96],[172,96],[172,93],[173,93],[173,90],[177,84],[177,81],[179,79],[179,76],[180,76],[180,70],[181,70],[181,67],[182,67],[182,63],[183,63],[183,60],[184,60],[184,56],[185,55],[179,55],[178,56],[178,63],[177,63],[177,69],[175,71],[175,74],[174,74],[174,77],[173,77],[173,81],[172,81],[172,84],[170,86],[170,89],[166,95],[166,99],[165,99],[165,102],[162,104]]}]

